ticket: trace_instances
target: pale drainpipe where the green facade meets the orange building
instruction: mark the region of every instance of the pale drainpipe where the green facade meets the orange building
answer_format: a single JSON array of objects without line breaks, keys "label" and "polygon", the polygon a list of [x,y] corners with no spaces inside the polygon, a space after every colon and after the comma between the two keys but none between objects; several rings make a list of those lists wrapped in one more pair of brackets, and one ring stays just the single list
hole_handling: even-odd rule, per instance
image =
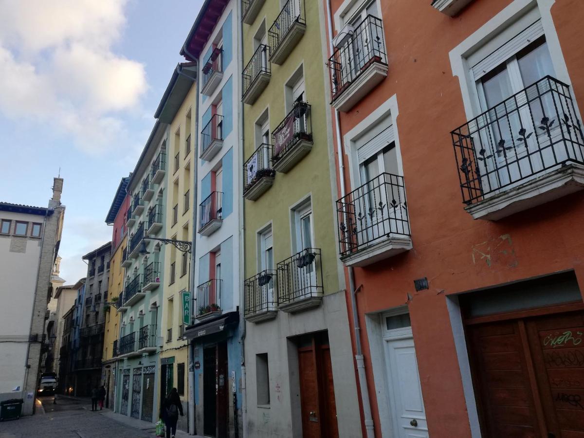
[{"label": "pale drainpipe where the green facade meets the orange building", "polygon": [[[329,54],[333,53],[332,46],[332,15],[331,0],[326,0],[326,20],[328,24]],[[339,179],[340,179],[340,196],[345,197],[345,164],[343,162],[343,147],[340,136],[340,116],[339,111],[335,108],[335,133],[337,155],[339,156]],[[357,298],[355,291],[355,278],[353,267],[349,266],[349,288],[351,295],[351,307],[353,310],[353,324],[355,331],[355,361],[357,364],[357,376],[359,376],[359,387],[361,389],[361,403],[363,404],[363,422],[367,433],[367,438],[375,437],[373,417],[371,416],[371,404],[369,401],[369,388],[367,387],[367,376],[365,374],[365,361],[361,351],[361,328],[359,327],[359,312],[357,311]]]}]

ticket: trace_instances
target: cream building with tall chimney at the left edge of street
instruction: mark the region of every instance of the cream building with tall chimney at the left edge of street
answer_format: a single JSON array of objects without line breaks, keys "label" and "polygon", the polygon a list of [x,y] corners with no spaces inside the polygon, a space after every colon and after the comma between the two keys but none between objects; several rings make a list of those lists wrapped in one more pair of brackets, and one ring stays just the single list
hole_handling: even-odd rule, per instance
[{"label": "cream building with tall chimney at the left edge of street", "polygon": [[34,409],[51,272],[61,240],[63,180],[54,179],[48,207],[0,203],[0,401],[23,398]]}]

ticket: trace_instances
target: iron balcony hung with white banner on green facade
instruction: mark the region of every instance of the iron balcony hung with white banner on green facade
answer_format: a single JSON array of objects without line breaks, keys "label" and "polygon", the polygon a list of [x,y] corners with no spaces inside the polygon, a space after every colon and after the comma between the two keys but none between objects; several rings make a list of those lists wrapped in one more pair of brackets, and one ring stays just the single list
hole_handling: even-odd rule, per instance
[{"label": "iron balcony hung with white banner on green facade", "polygon": [[244,197],[258,199],[274,183],[276,171],[272,169],[272,145],[262,143],[244,164]]}]

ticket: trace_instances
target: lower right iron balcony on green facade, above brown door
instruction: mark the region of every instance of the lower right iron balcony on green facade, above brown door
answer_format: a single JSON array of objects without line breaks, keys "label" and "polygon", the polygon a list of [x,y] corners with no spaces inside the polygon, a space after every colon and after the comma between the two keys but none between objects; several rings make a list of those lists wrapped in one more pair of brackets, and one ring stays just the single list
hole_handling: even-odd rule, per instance
[{"label": "lower right iron balcony on green facade, above brown door", "polygon": [[321,250],[306,248],[276,265],[278,305],[285,312],[315,307],[322,301]]}]

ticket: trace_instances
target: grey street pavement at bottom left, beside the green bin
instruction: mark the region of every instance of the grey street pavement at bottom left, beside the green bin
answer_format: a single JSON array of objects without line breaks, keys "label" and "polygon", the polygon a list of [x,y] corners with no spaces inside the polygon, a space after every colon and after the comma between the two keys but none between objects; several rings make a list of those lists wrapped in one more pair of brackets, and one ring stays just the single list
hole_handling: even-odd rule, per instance
[{"label": "grey street pavement at bottom left, beside the green bin", "polygon": [[[154,425],[138,427],[116,420],[110,409],[92,412],[87,399],[44,396],[36,414],[0,423],[0,438],[152,438]],[[40,406],[42,404],[42,406]],[[44,408],[44,413],[43,413]],[[121,419],[125,420],[125,419]],[[140,422],[144,423],[144,422]],[[177,434],[177,436],[179,436]]]}]

